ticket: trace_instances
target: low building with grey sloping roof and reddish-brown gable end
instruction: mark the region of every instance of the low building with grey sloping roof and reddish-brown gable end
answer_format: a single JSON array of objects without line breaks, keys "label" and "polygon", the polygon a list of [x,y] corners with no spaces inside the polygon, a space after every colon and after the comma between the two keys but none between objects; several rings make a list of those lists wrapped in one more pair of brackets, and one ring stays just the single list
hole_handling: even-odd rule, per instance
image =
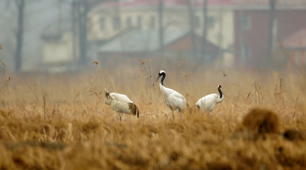
[{"label": "low building with grey sloping roof and reddish-brown gable end", "polygon": [[[159,51],[159,31],[157,30],[130,30],[105,43],[98,49],[100,63],[122,62],[139,60],[154,56]],[[192,46],[189,30],[164,31],[164,54],[167,58],[191,56]],[[200,50],[200,37],[196,36],[197,50]],[[207,58],[212,61],[219,52],[218,46],[207,43]],[[181,60],[181,57],[180,57]]]}]

